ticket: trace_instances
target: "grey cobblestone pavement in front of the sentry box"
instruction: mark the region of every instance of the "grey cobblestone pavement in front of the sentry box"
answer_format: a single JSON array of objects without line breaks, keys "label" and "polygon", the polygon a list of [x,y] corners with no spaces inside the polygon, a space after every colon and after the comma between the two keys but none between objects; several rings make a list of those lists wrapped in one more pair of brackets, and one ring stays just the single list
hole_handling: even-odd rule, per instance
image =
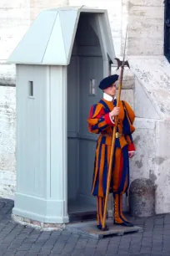
[{"label": "grey cobblestone pavement in front of the sentry box", "polygon": [[143,233],[101,240],[67,230],[45,232],[13,223],[13,201],[0,199],[0,256],[170,256],[170,215],[138,218]]}]

